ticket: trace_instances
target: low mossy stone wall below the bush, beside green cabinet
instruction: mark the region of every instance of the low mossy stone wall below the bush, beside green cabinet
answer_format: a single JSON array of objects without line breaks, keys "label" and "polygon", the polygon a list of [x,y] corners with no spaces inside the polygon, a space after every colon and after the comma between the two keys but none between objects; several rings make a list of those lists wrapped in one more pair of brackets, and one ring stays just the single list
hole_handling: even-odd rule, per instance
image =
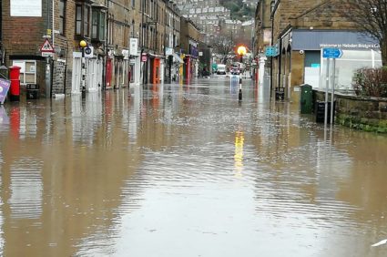
[{"label": "low mossy stone wall below the bush, beside green cabinet", "polygon": [[[313,91],[314,102],[323,101],[324,96],[324,92]],[[336,123],[364,131],[387,133],[387,98],[360,98],[341,94],[335,94],[335,97]]]}]

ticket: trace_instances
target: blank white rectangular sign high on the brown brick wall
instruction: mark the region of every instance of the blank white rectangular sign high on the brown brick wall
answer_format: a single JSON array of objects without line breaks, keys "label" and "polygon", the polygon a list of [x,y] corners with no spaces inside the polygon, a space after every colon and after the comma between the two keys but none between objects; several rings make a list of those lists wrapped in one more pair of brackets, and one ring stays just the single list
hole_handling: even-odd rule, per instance
[{"label": "blank white rectangular sign high on the brown brick wall", "polygon": [[42,0],[11,0],[11,16],[41,17]]}]

